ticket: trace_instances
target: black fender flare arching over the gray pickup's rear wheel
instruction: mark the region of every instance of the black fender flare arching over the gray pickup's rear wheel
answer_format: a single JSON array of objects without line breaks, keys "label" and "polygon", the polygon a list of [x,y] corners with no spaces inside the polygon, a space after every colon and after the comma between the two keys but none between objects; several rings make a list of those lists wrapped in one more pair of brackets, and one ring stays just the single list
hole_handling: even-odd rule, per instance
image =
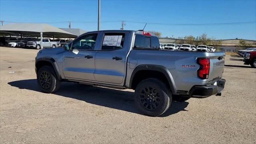
[{"label": "black fender flare arching over the gray pickup's rear wheel", "polygon": [[172,94],[177,94],[177,89],[176,89],[176,85],[174,83],[174,79],[172,77],[172,74],[170,73],[170,71],[164,67],[164,66],[160,66],[160,65],[154,65],[154,64],[142,64],[142,65],[139,65],[137,66],[133,72],[132,72],[132,75],[131,75],[131,78],[130,78],[130,84],[129,84],[129,88],[132,88],[132,81],[133,81],[133,78],[135,76],[135,74],[140,71],[140,70],[154,70],[154,71],[158,71],[158,72],[161,72],[164,74],[164,76],[167,78],[168,80],[168,83],[170,85],[170,88],[171,88],[171,91],[172,91]]}]

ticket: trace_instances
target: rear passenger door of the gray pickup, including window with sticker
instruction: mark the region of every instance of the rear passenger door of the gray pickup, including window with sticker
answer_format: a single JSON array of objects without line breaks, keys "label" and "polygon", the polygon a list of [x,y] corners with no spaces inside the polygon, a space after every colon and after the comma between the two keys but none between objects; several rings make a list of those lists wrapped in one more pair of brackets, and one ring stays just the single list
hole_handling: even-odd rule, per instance
[{"label": "rear passenger door of the gray pickup, including window with sticker", "polygon": [[95,56],[96,81],[123,84],[128,41],[129,32],[102,32],[100,49]]}]

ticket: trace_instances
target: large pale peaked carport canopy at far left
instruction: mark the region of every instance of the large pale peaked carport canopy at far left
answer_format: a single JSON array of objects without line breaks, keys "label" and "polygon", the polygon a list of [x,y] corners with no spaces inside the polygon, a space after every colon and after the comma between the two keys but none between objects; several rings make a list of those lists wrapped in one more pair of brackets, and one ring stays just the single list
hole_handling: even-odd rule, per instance
[{"label": "large pale peaked carport canopy at far left", "polygon": [[23,36],[38,36],[48,38],[76,38],[77,36],[48,24],[13,23],[0,26],[0,34],[22,34]]}]

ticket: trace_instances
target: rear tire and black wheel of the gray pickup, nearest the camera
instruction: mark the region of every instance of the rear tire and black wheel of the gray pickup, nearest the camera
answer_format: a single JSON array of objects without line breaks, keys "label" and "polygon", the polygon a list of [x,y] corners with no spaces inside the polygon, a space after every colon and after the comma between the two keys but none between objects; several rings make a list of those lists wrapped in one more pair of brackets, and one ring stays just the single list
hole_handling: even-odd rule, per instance
[{"label": "rear tire and black wheel of the gray pickup, nearest the camera", "polygon": [[148,78],[142,80],[136,87],[134,101],[142,113],[148,116],[160,116],[170,107],[172,94],[164,82]]}]

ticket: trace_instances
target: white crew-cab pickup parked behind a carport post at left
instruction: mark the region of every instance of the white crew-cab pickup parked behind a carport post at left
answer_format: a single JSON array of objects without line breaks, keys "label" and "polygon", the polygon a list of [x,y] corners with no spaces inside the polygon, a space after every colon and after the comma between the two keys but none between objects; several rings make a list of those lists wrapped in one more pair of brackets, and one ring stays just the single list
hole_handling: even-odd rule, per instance
[{"label": "white crew-cab pickup parked behind a carport post at left", "polygon": [[[28,41],[27,48],[36,48],[39,50],[41,48],[40,42],[41,42],[40,39]],[[42,46],[43,48],[56,48],[58,46],[58,42],[51,42],[49,38],[43,38]]]}]

